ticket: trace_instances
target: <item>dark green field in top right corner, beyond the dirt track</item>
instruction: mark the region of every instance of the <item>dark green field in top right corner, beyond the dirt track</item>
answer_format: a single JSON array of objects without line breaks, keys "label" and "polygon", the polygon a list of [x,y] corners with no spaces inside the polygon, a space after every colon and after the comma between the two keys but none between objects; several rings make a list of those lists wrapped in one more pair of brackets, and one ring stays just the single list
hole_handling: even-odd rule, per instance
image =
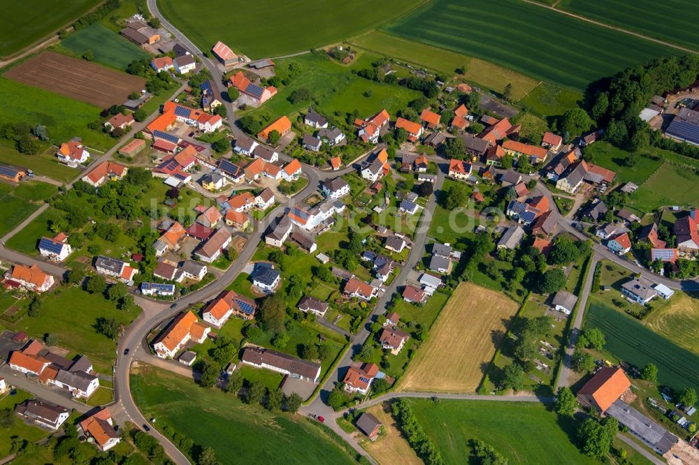
[{"label": "dark green field in top right corner, beyond the dirt track", "polygon": [[563,0],[556,8],[699,50],[699,11],[692,0]]}]

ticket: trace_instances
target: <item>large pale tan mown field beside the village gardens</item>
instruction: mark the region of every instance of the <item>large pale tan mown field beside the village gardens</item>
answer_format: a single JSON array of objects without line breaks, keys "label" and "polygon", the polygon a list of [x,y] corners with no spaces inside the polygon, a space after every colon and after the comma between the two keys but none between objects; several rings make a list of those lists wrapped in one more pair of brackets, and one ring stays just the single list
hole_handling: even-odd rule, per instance
[{"label": "large pale tan mown field beside the village gardens", "polygon": [[475,392],[484,367],[505,335],[505,322],[517,308],[517,302],[502,293],[461,283],[401,378],[398,390]]}]

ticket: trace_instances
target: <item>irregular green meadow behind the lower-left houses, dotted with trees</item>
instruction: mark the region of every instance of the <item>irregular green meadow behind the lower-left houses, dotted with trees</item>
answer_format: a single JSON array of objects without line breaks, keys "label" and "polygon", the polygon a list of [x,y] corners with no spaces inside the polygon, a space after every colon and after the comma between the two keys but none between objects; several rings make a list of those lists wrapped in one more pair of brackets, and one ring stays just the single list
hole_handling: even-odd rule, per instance
[{"label": "irregular green meadow behind the lower-left houses, dotted with trees", "polygon": [[17,323],[7,323],[12,330],[22,330],[41,339],[44,334],[56,334],[59,346],[75,353],[85,354],[94,363],[96,371],[111,374],[116,342],[94,330],[99,317],[115,318],[129,325],[138,316],[140,308],[118,310],[115,302],[102,295],[89,294],[79,288],[58,288],[45,297],[39,316],[25,316]]}]

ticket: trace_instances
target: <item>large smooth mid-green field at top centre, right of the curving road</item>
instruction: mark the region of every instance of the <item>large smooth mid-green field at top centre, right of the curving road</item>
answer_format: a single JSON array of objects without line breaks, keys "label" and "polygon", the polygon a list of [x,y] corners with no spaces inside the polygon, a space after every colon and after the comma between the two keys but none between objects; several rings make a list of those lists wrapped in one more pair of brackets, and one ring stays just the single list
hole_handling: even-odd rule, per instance
[{"label": "large smooth mid-green field at top centre, right of the curving road", "polygon": [[[161,0],[163,15],[201,50],[222,40],[252,59],[278,57],[346,40],[410,11],[423,0],[279,2]],[[231,24],[231,15],[239,18]],[[243,18],[258,18],[246,21]]]}]

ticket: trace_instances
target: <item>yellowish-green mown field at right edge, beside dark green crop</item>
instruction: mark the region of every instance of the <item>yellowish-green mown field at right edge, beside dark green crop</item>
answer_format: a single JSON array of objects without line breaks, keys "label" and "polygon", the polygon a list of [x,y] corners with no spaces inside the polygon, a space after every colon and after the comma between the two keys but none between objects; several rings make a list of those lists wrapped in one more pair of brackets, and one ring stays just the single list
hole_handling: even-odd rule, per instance
[{"label": "yellowish-green mown field at right edge, beside dark green crop", "polygon": [[668,302],[656,297],[656,307],[642,323],[678,346],[699,355],[699,298],[679,291]]}]

